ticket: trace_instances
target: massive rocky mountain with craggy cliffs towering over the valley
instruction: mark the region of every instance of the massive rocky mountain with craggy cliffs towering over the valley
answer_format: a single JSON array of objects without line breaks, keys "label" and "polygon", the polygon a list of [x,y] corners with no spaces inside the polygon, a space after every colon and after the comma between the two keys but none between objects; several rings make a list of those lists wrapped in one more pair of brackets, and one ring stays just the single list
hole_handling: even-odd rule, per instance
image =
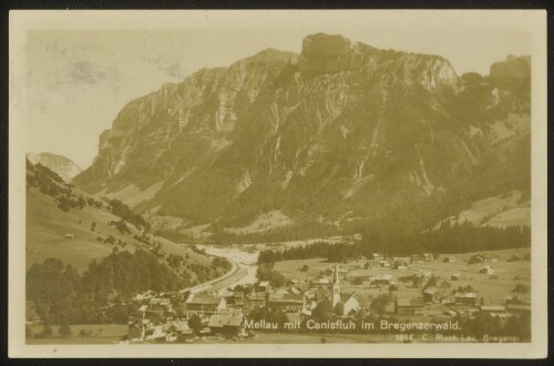
[{"label": "massive rocky mountain with craggy cliffs towering over the valley", "polygon": [[442,57],[308,35],[300,54],[268,49],[127,103],[72,182],[179,230],[434,224],[530,191],[525,60],[458,75]]}]

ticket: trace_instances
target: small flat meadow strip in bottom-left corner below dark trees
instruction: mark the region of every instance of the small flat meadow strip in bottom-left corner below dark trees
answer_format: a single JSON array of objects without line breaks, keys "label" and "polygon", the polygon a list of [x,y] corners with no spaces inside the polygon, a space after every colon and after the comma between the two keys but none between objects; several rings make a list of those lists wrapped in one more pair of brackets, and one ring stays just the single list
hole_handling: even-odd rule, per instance
[{"label": "small flat meadow strip in bottom-left corner below dark trees", "polygon": [[[125,324],[74,324],[71,325],[72,335],[61,336],[58,334],[58,326],[52,326],[53,335],[48,338],[27,338],[27,344],[32,345],[55,345],[55,344],[111,344],[120,340],[127,334]],[[89,336],[81,337],[83,329]],[[33,334],[42,332],[42,325],[32,325]]]}]

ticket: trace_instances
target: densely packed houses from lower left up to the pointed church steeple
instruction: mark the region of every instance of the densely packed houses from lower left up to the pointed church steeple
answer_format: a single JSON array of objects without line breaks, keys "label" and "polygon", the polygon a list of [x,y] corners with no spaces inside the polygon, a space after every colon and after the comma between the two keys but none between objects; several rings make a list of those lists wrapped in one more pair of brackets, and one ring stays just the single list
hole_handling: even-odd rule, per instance
[{"label": "densely packed houses from lower left up to the pointed church steeple", "polygon": [[[341,292],[338,267],[331,278],[315,278],[273,288],[268,282],[228,291],[223,294],[156,294],[146,292],[135,297],[137,311],[130,319],[130,342],[176,342],[199,335],[247,337],[245,321],[256,308],[281,312],[287,322],[300,322],[311,316],[321,302],[328,302],[337,316],[360,311],[356,293]],[[199,332],[191,328],[193,316],[201,321]]]}]

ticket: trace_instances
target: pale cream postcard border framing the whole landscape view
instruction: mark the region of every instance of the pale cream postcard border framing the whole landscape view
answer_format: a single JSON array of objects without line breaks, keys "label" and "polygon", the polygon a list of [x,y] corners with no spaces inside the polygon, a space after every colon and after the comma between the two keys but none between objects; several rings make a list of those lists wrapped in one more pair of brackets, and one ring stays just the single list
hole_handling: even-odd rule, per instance
[{"label": "pale cream postcard border framing the whole landscape view", "polygon": [[[307,22],[334,16],[482,17],[491,27],[510,17],[524,19],[532,39],[532,343],[530,344],[325,344],[325,345],[25,345],[24,343],[24,70],[25,32],[31,29],[168,29],[198,24],[209,18],[214,28],[248,28],[248,20],[276,14]],[[160,21],[160,20],[163,21]],[[358,18],[359,19],[359,18]],[[181,24],[181,26],[179,26]],[[407,26],[408,27],[408,26]],[[544,358],[547,355],[547,217],[546,217],[546,11],[545,10],[319,10],[319,11],[10,11],[9,45],[9,357],[421,357]]]}]

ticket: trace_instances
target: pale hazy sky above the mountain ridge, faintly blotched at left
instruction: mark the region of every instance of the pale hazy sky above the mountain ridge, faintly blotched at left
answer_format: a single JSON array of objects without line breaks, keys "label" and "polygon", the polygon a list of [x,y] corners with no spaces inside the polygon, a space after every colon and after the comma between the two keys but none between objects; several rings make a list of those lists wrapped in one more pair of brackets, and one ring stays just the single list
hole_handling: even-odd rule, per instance
[{"label": "pale hazy sky above the mountain ridge, faintly blotched at left", "polygon": [[529,21],[509,11],[495,18],[486,11],[465,14],[177,11],[124,18],[70,11],[41,17],[44,24],[27,33],[27,150],[63,154],[86,167],[100,133],[126,102],[266,48],[300,52],[310,33],[440,54],[459,74],[488,74],[491,63],[507,54],[531,53]]}]

